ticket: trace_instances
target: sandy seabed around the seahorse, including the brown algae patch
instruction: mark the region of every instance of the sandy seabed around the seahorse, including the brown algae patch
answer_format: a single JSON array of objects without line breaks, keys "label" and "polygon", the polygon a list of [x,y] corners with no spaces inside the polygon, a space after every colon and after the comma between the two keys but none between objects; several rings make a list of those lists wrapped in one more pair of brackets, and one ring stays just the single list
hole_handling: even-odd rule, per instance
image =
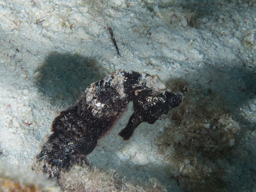
[{"label": "sandy seabed around the seahorse, including the brown algae patch", "polygon": [[129,105],[92,167],[63,173],[62,189],[256,191],[255,15],[253,0],[0,0],[0,160],[31,169],[61,111],[133,70],[158,75],[184,104],[124,141]]}]

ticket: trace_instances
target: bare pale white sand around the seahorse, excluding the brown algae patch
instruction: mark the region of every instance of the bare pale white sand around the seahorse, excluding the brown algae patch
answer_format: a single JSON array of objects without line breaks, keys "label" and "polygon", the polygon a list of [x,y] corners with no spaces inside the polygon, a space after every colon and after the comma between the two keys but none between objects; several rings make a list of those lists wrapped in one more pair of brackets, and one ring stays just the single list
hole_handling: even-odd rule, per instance
[{"label": "bare pale white sand around the seahorse, excluding the brown algae patch", "polygon": [[[0,0],[1,160],[31,169],[58,113],[75,105],[90,83],[117,69],[158,75],[167,86],[174,79],[186,79],[207,88],[212,80],[211,89],[227,97],[230,110],[244,119],[240,123],[251,137],[256,99],[248,83],[254,80],[255,63],[250,60],[256,54],[239,38],[255,25],[256,4],[240,1]],[[173,21],[173,29],[146,7],[156,4]],[[192,27],[185,20],[195,13]],[[121,57],[107,26],[112,27]],[[129,141],[123,141],[117,134],[131,113],[130,106],[98,142],[89,155],[92,164],[115,169],[128,181],[157,178],[182,190],[170,180],[154,143],[170,120],[164,116],[154,125],[142,123]],[[255,155],[255,137],[247,142]],[[245,148],[241,146],[242,152]],[[135,169],[143,165],[147,166]],[[256,170],[246,170],[251,169]],[[244,189],[238,185],[238,191],[256,189],[253,180],[237,177],[232,182],[247,182]]]}]

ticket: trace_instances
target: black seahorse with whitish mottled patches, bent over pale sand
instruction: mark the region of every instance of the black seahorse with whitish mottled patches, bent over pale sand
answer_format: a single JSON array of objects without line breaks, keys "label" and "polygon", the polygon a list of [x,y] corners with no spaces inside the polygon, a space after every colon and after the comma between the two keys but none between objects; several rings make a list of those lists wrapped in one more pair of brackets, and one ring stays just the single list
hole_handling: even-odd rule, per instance
[{"label": "black seahorse with whitish mottled patches, bent over pale sand", "polygon": [[156,75],[116,71],[92,83],[76,106],[55,118],[53,133],[37,155],[37,163],[50,178],[56,177],[73,163],[87,163],[86,155],[129,102],[133,102],[134,113],[118,134],[124,140],[129,140],[141,122],[155,123],[181,101],[182,95],[166,89]]}]

